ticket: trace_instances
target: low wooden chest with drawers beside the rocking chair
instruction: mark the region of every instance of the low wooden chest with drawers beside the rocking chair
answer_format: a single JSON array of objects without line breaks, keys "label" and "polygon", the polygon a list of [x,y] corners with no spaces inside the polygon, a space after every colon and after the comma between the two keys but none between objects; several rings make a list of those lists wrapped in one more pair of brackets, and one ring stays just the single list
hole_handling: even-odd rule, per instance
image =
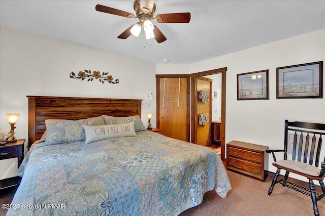
[{"label": "low wooden chest with drawers beside the rocking chair", "polygon": [[227,144],[227,169],[265,181],[268,177],[268,146],[232,141]]}]

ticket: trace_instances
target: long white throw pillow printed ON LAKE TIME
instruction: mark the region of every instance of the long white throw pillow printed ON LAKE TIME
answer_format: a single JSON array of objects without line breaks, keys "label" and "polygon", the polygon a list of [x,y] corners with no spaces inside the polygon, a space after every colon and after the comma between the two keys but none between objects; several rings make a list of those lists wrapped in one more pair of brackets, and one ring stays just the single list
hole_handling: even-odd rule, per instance
[{"label": "long white throw pillow printed ON LAKE TIME", "polygon": [[84,125],[84,128],[86,134],[85,144],[112,138],[137,136],[134,129],[134,122],[94,126]]}]

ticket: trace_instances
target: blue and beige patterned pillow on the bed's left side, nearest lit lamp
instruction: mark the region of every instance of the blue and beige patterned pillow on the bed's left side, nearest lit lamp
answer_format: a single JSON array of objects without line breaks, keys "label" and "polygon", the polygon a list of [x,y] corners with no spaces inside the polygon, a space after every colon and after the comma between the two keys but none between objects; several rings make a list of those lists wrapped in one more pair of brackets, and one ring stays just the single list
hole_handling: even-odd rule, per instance
[{"label": "blue and beige patterned pillow on the bed's left side, nearest lit lamp", "polygon": [[104,125],[104,119],[99,117],[80,120],[47,119],[45,145],[68,143],[85,140],[83,125]]}]

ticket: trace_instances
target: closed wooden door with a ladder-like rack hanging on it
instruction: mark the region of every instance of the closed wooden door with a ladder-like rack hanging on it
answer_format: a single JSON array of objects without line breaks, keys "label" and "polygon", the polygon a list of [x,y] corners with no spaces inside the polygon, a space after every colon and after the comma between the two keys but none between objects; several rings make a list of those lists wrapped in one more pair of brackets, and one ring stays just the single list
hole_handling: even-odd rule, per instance
[{"label": "closed wooden door with a ladder-like rack hanging on it", "polygon": [[160,134],[189,142],[189,78],[157,78]]}]

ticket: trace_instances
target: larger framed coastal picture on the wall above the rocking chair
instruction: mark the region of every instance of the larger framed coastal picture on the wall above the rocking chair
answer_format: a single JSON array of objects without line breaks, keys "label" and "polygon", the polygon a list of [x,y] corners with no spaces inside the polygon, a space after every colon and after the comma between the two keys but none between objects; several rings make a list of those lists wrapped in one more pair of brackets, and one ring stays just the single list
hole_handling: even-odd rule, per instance
[{"label": "larger framed coastal picture on the wall above the rocking chair", "polygon": [[276,99],[323,98],[323,62],[276,68]]}]

